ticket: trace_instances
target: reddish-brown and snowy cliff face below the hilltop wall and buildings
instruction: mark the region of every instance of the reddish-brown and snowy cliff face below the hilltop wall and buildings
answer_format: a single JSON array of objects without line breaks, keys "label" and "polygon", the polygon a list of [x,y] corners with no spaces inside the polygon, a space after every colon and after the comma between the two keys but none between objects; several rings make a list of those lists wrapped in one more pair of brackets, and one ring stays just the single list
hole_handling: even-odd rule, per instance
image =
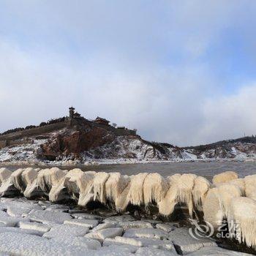
[{"label": "reddish-brown and snowy cliff face below the hilltop wall and buildings", "polygon": [[256,138],[178,148],[152,143],[138,135],[117,135],[111,129],[83,124],[19,140],[0,149],[0,162],[143,162],[256,158]]}]

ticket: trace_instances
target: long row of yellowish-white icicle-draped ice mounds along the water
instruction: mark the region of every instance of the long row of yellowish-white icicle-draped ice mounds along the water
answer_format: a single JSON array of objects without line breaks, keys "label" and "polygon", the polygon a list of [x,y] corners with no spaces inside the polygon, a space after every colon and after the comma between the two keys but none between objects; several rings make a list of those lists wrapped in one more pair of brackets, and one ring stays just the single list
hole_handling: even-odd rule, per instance
[{"label": "long row of yellowish-white icicle-draped ice mounds along the water", "polygon": [[[230,228],[230,236],[241,233],[238,241],[256,248],[256,175],[238,178],[234,172],[220,173],[213,184],[195,174],[83,172],[80,169],[61,170],[25,168],[11,172],[0,168],[0,195],[46,197],[52,202],[75,200],[79,206],[94,201],[116,211],[128,205],[158,207],[159,214],[170,216],[176,205],[186,205],[190,217],[203,211],[203,218],[215,228],[224,220],[239,222],[240,230]],[[246,209],[246,211],[245,211]],[[195,214],[194,214],[195,213]]]}]

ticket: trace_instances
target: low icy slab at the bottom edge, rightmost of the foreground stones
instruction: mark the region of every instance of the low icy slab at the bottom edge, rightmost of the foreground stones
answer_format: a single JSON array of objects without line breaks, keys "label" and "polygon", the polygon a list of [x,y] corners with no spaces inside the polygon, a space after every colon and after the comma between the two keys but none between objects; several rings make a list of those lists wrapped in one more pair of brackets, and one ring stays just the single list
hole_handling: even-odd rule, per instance
[{"label": "low icy slab at the bottom edge, rightmost of the foreground stones", "polygon": [[222,249],[217,246],[206,246],[200,248],[196,252],[189,253],[189,256],[249,256],[247,253],[235,252],[227,249]]}]

